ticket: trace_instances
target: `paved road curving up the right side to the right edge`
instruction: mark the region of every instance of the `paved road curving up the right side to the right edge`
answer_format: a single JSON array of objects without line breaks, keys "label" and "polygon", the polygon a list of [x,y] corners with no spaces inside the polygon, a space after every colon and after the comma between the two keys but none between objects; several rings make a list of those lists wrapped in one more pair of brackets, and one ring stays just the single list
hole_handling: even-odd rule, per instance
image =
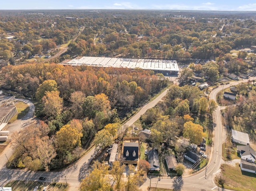
[{"label": "paved road curving up the right side to the right edge", "polygon": [[[256,79],[250,78],[250,80]],[[216,101],[216,95],[218,92],[226,89],[228,87],[238,85],[239,83],[247,83],[248,80],[232,82],[228,85],[223,85],[214,89],[210,93],[210,99]],[[222,107],[223,109],[223,107]],[[163,178],[158,180],[158,178],[151,179],[151,187],[161,187],[161,188],[173,188],[174,185],[180,187],[184,191],[218,191],[218,187],[214,184],[213,180],[216,175],[220,172],[220,165],[222,163],[222,143],[226,139],[226,130],[222,126],[222,116],[221,116],[221,107],[218,106],[217,109],[213,112],[213,121],[216,124],[214,130],[214,145],[211,150],[211,155],[207,167],[207,171],[204,169],[200,173],[191,175],[189,177],[182,177],[180,180]],[[210,153],[209,153],[210,154]],[[146,183],[142,185],[142,190],[146,191],[147,187],[150,186],[150,179],[147,179]],[[228,189],[225,189],[226,191]]]}]

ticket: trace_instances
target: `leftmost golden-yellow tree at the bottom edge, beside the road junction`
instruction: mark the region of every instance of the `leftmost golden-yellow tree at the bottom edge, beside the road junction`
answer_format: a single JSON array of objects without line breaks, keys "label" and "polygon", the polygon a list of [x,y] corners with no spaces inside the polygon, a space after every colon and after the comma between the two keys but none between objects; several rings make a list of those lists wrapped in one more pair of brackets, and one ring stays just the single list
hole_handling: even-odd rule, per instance
[{"label": "leftmost golden-yellow tree at the bottom edge, beside the road junction", "polygon": [[95,161],[87,177],[82,180],[81,191],[107,191],[110,190],[110,182],[107,177],[108,164]]}]

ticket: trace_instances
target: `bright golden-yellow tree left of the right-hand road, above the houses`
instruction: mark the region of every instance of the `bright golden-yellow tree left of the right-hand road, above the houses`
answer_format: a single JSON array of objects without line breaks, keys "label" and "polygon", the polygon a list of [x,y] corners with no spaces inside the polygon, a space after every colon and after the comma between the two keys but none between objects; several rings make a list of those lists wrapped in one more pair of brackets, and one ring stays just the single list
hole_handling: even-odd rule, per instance
[{"label": "bright golden-yellow tree left of the right-hand road, above the houses", "polygon": [[190,140],[190,143],[199,144],[205,136],[203,127],[199,124],[194,124],[192,121],[184,124],[183,136]]}]

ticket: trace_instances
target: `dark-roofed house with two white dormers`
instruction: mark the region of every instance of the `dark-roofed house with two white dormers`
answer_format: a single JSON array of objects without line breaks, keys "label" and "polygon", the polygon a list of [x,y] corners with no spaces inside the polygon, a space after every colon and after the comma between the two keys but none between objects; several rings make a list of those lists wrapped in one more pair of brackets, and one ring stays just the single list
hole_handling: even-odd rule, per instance
[{"label": "dark-roofed house with two white dormers", "polygon": [[[135,140],[136,139],[136,140]],[[140,156],[139,138],[124,138],[122,156],[125,164],[137,164]],[[130,141],[129,141],[130,140]]]}]

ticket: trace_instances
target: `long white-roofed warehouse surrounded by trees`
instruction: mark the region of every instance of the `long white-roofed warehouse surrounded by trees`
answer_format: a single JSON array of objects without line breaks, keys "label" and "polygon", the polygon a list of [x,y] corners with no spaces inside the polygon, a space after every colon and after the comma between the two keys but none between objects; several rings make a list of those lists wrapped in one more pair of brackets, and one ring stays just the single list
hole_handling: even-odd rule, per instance
[{"label": "long white-roofed warehouse surrounded by trees", "polygon": [[70,66],[88,65],[91,67],[113,67],[113,68],[141,68],[152,70],[164,75],[179,73],[176,60],[156,59],[131,59],[131,58],[109,58],[109,57],[76,57],[72,60],[64,60],[60,64]]}]

